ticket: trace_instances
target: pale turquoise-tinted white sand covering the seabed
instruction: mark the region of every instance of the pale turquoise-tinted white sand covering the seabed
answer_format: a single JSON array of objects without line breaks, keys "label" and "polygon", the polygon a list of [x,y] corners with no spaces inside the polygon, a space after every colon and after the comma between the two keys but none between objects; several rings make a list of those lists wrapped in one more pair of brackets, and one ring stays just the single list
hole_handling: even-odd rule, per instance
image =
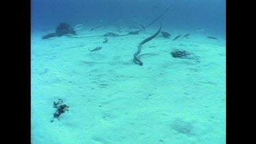
[{"label": "pale turquoise-tinted white sand covering the seabed", "polygon": [[[103,35],[116,28],[79,32]],[[167,29],[171,39],[143,45],[139,66],[132,61],[139,42],[153,35],[32,39],[33,144],[225,143],[225,35]],[[126,33],[128,29],[122,30]],[[90,54],[88,49],[102,46]],[[178,59],[175,48],[200,57]],[[70,106],[51,118],[53,101]]]}]

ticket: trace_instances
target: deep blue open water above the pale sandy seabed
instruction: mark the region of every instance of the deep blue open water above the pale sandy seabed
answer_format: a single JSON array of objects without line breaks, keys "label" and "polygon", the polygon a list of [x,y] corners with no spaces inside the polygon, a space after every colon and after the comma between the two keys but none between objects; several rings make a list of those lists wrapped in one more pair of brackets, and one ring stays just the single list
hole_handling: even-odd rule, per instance
[{"label": "deep blue open water above the pale sandy seabed", "polygon": [[[33,0],[32,3],[35,30],[56,27],[60,22],[95,25],[103,20],[106,25],[132,25],[135,23],[133,17],[147,25],[172,5],[172,10],[160,19],[164,26],[176,29],[205,27],[225,35],[224,0]],[[124,23],[119,23],[120,19]]]}]

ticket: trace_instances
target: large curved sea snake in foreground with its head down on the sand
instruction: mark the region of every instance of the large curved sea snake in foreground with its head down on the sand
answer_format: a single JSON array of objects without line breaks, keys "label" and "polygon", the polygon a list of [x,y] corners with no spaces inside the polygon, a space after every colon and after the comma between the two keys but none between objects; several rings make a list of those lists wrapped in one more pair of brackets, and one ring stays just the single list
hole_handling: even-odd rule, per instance
[{"label": "large curved sea snake in foreground with its head down on the sand", "polygon": [[137,64],[139,64],[140,66],[143,65],[143,62],[137,57],[137,55],[139,55],[139,53],[141,53],[141,46],[142,46],[143,44],[145,44],[146,42],[149,42],[149,41],[152,40],[153,38],[156,38],[156,36],[160,33],[161,29],[162,29],[162,25],[161,25],[161,23],[160,23],[160,28],[158,29],[158,31],[157,31],[154,35],[152,35],[150,38],[147,38],[147,39],[143,40],[141,43],[139,43],[138,50],[137,50],[137,52],[134,53],[134,55],[133,55],[133,57],[134,57],[134,59],[133,59],[133,60],[134,60],[134,63],[137,63]]}]

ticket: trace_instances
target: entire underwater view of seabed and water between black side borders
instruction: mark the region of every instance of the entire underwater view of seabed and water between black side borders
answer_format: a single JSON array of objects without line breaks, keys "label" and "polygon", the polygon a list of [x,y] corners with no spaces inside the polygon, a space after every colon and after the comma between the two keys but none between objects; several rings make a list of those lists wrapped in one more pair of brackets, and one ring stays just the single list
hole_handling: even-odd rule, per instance
[{"label": "entire underwater view of seabed and water between black side borders", "polygon": [[32,0],[31,143],[226,143],[226,1]]}]

